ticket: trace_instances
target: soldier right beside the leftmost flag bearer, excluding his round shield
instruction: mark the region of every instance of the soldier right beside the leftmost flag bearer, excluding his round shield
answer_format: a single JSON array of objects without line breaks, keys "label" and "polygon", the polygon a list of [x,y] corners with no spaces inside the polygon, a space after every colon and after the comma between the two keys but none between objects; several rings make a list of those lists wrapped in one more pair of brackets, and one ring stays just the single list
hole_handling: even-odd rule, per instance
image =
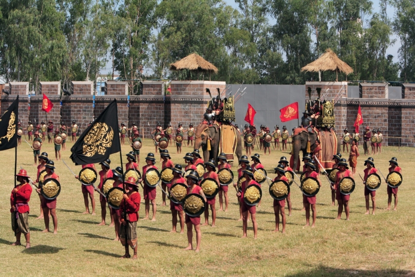
[{"label": "soldier right beside the leftmost flag bearer, excluding his round shield", "polygon": [[[54,162],[51,160],[48,160],[45,165],[46,175],[43,178],[43,182],[46,182],[47,179],[53,178],[58,180],[59,182],[59,176],[58,174],[54,173]],[[37,193],[41,193],[41,189],[36,190]],[[42,200],[42,209],[43,209],[43,215],[45,219],[45,230],[43,230],[44,233],[49,232],[49,214],[52,216],[52,222],[53,222],[53,234],[58,233],[58,217],[56,217],[56,198],[53,200],[49,200],[43,197]]]}]

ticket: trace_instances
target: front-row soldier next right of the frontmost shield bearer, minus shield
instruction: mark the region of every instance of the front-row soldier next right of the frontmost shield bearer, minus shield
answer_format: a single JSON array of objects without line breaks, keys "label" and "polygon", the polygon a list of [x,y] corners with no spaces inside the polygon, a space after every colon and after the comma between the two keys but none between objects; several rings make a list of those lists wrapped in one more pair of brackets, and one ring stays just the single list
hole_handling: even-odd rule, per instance
[{"label": "front-row soldier next right of the frontmost shield bearer, minus shield", "polygon": [[254,239],[257,238],[258,235],[258,225],[256,223],[256,207],[255,206],[248,206],[245,201],[243,200],[243,193],[245,189],[250,186],[251,184],[256,184],[257,186],[261,187],[259,183],[257,183],[254,178],[254,170],[251,167],[247,167],[243,171],[243,176],[246,178],[246,181],[242,182],[242,192],[237,192],[236,196],[241,198],[242,201],[242,230],[243,235],[242,237],[247,237],[247,230],[248,230],[248,212],[251,214],[252,219],[252,226],[254,229]]}]

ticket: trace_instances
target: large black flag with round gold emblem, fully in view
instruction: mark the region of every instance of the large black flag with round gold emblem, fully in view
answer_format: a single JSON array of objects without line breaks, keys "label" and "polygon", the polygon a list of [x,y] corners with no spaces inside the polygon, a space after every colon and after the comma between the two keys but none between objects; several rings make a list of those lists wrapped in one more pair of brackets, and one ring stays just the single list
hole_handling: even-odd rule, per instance
[{"label": "large black flag with round gold emblem, fully in view", "polygon": [[86,128],[70,151],[70,158],[77,165],[102,162],[108,159],[110,154],[121,151],[117,100],[112,101]]}]

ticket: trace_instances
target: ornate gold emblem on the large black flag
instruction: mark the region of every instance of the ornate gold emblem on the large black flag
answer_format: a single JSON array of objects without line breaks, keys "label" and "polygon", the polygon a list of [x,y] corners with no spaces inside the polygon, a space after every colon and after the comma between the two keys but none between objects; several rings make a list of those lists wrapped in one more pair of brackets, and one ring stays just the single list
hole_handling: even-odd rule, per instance
[{"label": "ornate gold emblem on the large black flag", "polygon": [[112,145],[113,137],[114,131],[112,127],[103,122],[95,122],[84,136],[83,154],[86,157],[92,157],[95,154],[105,155],[107,149]]}]

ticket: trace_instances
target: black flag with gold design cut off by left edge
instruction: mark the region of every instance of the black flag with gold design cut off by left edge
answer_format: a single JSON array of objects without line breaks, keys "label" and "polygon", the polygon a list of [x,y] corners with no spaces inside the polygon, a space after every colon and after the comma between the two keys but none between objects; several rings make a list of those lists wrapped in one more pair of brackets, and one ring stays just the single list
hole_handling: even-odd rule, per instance
[{"label": "black flag with gold design cut off by left edge", "polygon": [[18,96],[0,119],[0,151],[17,147]]}]

